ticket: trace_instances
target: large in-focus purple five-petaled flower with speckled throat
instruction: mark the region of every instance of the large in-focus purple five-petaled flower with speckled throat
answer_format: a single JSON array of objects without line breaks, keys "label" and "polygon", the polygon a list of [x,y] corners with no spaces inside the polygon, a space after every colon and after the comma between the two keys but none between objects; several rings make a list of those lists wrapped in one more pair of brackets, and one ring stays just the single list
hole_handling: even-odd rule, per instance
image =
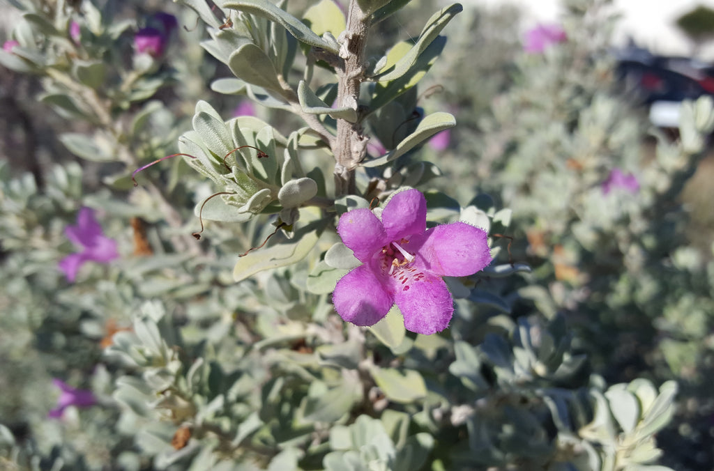
[{"label": "large in-focus purple five-petaled flower with speckled throat", "polygon": [[453,299],[442,276],[467,276],[491,263],[483,229],[456,222],[426,228],[426,199],[396,193],[382,211],[359,208],[340,217],[337,232],[363,265],[337,282],[337,313],[374,325],[396,303],[407,330],[432,334],[448,327]]}]

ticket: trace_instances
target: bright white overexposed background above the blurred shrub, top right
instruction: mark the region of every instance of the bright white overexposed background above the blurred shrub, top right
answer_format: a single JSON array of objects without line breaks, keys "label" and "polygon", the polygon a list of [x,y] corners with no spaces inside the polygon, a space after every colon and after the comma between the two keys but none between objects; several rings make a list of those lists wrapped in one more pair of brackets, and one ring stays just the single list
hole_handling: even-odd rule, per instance
[{"label": "bright white overexposed background above the blurred shrub, top right", "polygon": [[[538,22],[558,20],[560,0],[464,0],[465,4],[498,6],[506,2],[518,4],[529,12],[526,28]],[[674,26],[675,19],[697,5],[714,9],[714,0],[614,0],[620,19],[615,41],[624,44],[628,34],[640,46],[658,54],[689,54],[690,44]],[[703,51],[700,59],[714,59],[714,45]]]}]

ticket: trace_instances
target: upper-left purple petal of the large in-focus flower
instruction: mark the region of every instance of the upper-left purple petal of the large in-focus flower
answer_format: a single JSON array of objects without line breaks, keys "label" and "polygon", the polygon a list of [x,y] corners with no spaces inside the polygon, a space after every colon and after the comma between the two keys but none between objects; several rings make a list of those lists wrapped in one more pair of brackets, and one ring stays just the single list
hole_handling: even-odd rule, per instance
[{"label": "upper-left purple petal of the large in-focus flower", "polygon": [[340,216],[337,233],[362,263],[388,243],[381,221],[367,208],[353,209]]}]

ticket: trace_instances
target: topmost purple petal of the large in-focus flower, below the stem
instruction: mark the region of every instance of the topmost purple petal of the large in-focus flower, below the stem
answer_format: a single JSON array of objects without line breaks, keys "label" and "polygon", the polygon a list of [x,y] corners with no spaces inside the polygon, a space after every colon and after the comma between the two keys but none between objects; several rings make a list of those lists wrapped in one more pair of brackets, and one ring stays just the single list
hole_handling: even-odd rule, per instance
[{"label": "topmost purple petal of the large in-focus flower, below the stem", "polygon": [[426,198],[410,189],[395,193],[382,211],[382,224],[389,240],[426,231]]}]

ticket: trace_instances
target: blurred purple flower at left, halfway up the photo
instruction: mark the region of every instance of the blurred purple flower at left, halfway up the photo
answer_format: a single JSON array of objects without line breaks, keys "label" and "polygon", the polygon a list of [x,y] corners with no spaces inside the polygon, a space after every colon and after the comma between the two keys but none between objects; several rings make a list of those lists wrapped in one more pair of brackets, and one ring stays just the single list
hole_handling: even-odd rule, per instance
[{"label": "blurred purple flower at left, halfway up the photo", "polygon": [[59,262],[59,269],[70,282],[74,282],[83,263],[90,260],[109,263],[119,257],[116,241],[104,236],[91,208],[81,208],[77,215],[77,225],[67,226],[64,233],[69,240],[82,248],[81,252],[67,255]]}]

